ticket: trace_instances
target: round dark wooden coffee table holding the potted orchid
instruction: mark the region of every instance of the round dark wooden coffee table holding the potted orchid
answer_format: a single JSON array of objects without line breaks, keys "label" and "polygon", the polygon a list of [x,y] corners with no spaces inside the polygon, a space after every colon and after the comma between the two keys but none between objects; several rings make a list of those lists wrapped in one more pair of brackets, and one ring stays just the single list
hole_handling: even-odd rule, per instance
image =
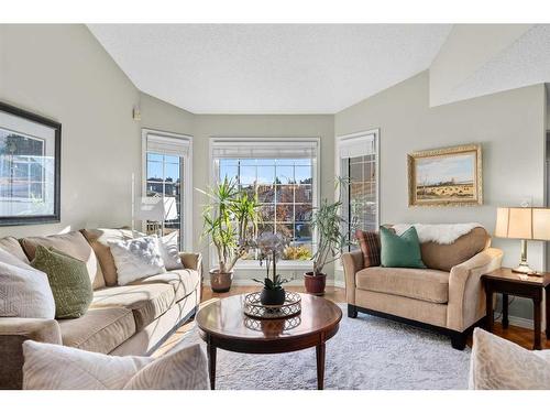
[{"label": "round dark wooden coffee table holding the potted orchid", "polygon": [[334,303],[301,295],[301,313],[283,319],[256,319],[244,315],[244,295],[216,301],[199,309],[196,322],[207,344],[210,387],[216,388],[216,350],[276,354],[316,347],[317,388],[324,381],[324,343],[338,332],[342,311]]}]

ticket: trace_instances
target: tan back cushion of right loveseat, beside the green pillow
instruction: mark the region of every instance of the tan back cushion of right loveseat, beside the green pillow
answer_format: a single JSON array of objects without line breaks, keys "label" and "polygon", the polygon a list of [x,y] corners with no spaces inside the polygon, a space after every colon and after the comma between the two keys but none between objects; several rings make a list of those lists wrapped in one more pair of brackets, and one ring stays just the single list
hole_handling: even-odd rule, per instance
[{"label": "tan back cushion of right loveseat, beside the green pillow", "polygon": [[451,268],[470,260],[491,244],[491,237],[485,228],[476,227],[459,237],[453,243],[420,243],[422,261],[433,270],[451,271]]}]

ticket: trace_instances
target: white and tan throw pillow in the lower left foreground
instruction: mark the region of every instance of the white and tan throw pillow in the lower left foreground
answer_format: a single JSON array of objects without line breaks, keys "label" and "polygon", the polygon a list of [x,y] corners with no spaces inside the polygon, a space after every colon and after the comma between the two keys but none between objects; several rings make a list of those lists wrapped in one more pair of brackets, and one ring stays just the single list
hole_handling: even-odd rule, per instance
[{"label": "white and tan throw pillow in the lower left foreground", "polygon": [[206,390],[207,359],[199,345],[162,356],[107,356],[73,347],[23,343],[24,390]]}]

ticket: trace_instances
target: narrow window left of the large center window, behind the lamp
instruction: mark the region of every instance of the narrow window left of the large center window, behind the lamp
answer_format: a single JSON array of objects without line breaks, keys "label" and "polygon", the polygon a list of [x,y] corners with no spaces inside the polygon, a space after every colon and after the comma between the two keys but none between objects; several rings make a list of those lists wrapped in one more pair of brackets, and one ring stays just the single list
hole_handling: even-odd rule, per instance
[{"label": "narrow window left of the large center window, behind the lamp", "polygon": [[[180,249],[190,248],[190,137],[144,130],[144,196],[173,197],[177,217],[164,222],[164,235],[178,232]],[[148,228],[150,229],[150,228]]]}]

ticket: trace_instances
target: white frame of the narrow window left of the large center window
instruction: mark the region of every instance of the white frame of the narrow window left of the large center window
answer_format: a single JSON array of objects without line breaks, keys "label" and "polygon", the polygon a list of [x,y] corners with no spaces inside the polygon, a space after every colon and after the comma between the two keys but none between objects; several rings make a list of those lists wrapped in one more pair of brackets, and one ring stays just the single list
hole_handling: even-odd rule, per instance
[{"label": "white frame of the narrow window left of the large center window", "polygon": [[188,145],[187,153],[183,154],[184,157],[184,188],[180,192],[180,196],[184,199],[180,202],[180,213],[184,221],[184,227],[182,228],[183,236],[182,239],[182,250],[193,251],[193,135],[166,132],[156,129],[142,129],[142,196],[146,194],[147,185],[147,135],[154,134],[155,137],[183,140]]}]

